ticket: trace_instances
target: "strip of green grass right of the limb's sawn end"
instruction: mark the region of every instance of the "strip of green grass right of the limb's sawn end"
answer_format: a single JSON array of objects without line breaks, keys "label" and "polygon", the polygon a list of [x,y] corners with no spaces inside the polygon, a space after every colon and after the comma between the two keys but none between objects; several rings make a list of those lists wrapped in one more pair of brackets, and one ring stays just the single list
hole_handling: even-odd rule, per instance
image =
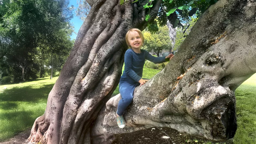
[{"label": "strip of green grass right of the limb's sawn end", "polygon": [[235,91],[238,129],[234,143],[256,144],[256,74]]}]

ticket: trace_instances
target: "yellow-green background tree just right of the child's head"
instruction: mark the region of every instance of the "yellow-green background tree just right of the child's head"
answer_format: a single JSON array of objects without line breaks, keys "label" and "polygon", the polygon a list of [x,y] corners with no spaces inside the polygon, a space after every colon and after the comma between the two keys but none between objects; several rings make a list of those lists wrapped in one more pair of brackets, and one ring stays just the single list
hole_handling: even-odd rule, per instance
[{"label": "yellow-green background tree just right of the child's head", "polygon": [[145,37],[143,49],[153,51],[158,57],[162,50],[169,50],[172,47],[167,26],[159,27],[156,32],[150,32],[146,29],[143,31],[143,35]]}]

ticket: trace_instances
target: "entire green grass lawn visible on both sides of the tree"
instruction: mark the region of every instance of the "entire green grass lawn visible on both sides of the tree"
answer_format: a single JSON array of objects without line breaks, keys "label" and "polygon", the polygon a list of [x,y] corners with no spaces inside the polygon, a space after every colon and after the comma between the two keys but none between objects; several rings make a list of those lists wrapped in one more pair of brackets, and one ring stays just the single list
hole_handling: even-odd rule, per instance
[{"label": "entire green grass lawn visible on both sides of the tree", "polygon": [[[159,71],[144,67],[143,78],[151,78]],[[0,141],[33,126],[35,119],[44,113],[48,94],[57,78],[0,85]],[[119,93],[118,88],[113,95]],[[242,83],[235,95],[238,129],[233,141],[256,144],[256,74]]]}]

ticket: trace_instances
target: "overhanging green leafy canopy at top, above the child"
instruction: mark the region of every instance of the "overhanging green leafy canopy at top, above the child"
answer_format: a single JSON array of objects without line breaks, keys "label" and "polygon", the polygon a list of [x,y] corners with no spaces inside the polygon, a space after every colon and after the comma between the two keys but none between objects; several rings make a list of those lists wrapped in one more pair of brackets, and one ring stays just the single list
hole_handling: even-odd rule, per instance
[{"label": "overhanging green leafy canopy at top, above the child", "polygon": [[[135,0],[133,3],[143,5],[146,9],[145,20],[148,22],[149,31],[158,31],[158,26],[166,25],[169,20],[174,28],[184,27],[182,21],[189,20],[190,17],[196,14],[197,18],[206,11],[208,7],[216,3],[218,0],[163,0],[158,11],[156,19],[151,19],[150,8],[153,7],[154,0],[149,0],[146,4],[140,0]],[[123,5],[126,1],[121,0]],[[145,5],[144,5],[145,4]]]}]

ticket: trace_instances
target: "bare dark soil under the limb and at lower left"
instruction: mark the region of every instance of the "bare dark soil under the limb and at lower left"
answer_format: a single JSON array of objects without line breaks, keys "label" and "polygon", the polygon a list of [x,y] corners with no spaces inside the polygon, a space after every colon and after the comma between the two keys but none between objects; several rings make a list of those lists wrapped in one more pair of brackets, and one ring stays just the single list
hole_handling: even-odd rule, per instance
[{"label": "bare dark soil under the limb and at lower left", "polygon": [[[0,144],[27,144],[28,142],[26,140],[30,135],[30,131],[31,128],[18,133],[5,142],[0,142]],[[205,139],[192,137],[174,129],[158,129],[155,127],[153,129],[136,131],[130,134],[122,134],[113,142],[113,144],[202,144],[206,142],[208,141]],[[223,144],[224,142],[212,142],[212,144],[214,143]],[[233,139],[229,139],[225,143],[234,144]]]}]

